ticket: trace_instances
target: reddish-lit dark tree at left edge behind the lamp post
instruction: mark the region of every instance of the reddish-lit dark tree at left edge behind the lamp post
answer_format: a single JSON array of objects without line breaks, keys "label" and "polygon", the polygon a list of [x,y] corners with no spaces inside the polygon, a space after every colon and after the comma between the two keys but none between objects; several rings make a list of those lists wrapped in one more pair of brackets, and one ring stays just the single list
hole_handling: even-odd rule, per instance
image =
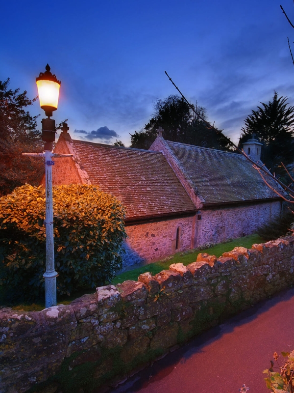
[{"label": "reddish-lit dark tree at left edge behind the lamp post", "polygon": [[25,110],[35,102],[26,91],[8,89],[9,79],[0,81],[0,196],[25,183],[39,185],[44,160],[24,157],[22,153],[43,151],[37,116]]}]

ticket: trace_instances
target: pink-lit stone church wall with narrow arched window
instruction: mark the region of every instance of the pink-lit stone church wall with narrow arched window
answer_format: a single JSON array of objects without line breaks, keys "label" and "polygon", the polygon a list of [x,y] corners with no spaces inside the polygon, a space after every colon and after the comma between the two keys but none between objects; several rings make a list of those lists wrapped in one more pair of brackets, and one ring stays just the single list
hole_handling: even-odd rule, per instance
[{"label": "pink-lit stone church wall with narrow arched window", "polygon": [[[145,224],[126,225],[128,239],[123,247],[123,265],[160,259],[178,251],[192,248],[195,217],[182,217]],[[179,244],[176,250],[176,234]]]}]

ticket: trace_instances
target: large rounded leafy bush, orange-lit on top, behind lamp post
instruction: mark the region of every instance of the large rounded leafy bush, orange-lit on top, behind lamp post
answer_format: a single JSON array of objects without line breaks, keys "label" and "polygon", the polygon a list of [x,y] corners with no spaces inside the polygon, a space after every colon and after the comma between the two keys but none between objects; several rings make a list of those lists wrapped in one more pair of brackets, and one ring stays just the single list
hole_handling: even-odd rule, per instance
[{"label": "large rounded leafy bush, orange-lit on top, behind lamp post", "polygon": [[[97,187],[53,187],[57,292],[110,281],[122,266],[124,208]],[[0,284],[6,297],[44,296],[45,189],[28,184],[0,198]]]}]

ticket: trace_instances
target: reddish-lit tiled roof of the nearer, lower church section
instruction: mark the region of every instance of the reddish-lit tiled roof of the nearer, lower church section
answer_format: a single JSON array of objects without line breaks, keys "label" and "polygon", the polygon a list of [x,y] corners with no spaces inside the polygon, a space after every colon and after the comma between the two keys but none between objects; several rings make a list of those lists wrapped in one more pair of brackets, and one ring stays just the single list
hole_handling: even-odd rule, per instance
[{"label": "reddish-lit tiled roof of the nearer, lower church section", "polygon": [[162,153],[73,143],[91,183],[123,203],[126,219],[196,210]]}]

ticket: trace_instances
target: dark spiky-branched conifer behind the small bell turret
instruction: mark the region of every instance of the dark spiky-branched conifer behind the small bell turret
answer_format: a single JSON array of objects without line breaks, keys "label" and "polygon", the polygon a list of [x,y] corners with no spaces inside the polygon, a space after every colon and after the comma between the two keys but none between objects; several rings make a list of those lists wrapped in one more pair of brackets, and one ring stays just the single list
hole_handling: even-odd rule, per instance
[{"label": "dark spiky-branched conifer behind the small bell turret", "polygon": [[271,172],[286,176],[284,165],[294,160],[294,107],[289,106],[287,97],[278,97],[275,91],[272,101],[261,106],[245,119],[245,127],[239,146],[255,133],[261,143],[261,160]]}]

